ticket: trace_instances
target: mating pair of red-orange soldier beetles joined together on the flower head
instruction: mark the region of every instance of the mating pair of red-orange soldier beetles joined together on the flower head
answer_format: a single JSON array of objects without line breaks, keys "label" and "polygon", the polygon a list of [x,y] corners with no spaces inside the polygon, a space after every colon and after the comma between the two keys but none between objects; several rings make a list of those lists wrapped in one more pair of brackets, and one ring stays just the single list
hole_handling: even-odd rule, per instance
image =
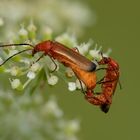
[{"label": "mating pair of red-orange soldier beetles joined together on the flower head", "polygon": [[[1,65],[6,63],[12,57],[25,51],[32,50],[33,56],[38,52],[43,52],[42,56],[37,61],[39,61],[44,55],[48,55],[53,62],[54,59],[57,59],[66,67],[70,67],[79,79],[80,83],[82,81],[86,86],[86,91],[84,91],[82,88],[85,99],[91,104],[100,106],[103,112],[108,112],[120,75],[119,65],[116,61],[114,61],[112,58],[107,58],[102,55],[102,59],[98,62],[98,64],[106,65],[106,68],[99,68],[97,70],[105,69],[106,74],[100,81],[96,82],[96,64],[82,56],[76,50],[67,48],[59,42],[48,40],[35,46],[28,43],[22,43],[0,45],[0,47],[22,45],[29,45],[31,49],[22,50],[10,56]],[[96,84],[101,84],[102,91],[95,94],[94,88],[96,87]]]}]

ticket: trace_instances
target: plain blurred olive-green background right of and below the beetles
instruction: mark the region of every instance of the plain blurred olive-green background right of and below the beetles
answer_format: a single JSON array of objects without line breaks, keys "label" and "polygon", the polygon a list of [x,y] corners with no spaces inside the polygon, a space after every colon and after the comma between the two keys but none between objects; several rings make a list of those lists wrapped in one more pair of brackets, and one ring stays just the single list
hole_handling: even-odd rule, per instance
[{"label": "plain blurred olive-green background right of and below the beetles", "polygon": [[112,48],[111,57],[120,64],[122,90],[117,87],[107,114],[87,103],[80,91],[68,92],[63,80],[59,82],[59,86],[51,88],[48,95],[56,93],[58,103],[67,118],[78,117],[81,120],[81,131],[78,134],[80,140],[140,139],[140,3],[138,0],[79,2],[85,3],[97,15],[96,24],[87,27],[79,40],[86,42],[91,38],[102,45],[104,51]]}]

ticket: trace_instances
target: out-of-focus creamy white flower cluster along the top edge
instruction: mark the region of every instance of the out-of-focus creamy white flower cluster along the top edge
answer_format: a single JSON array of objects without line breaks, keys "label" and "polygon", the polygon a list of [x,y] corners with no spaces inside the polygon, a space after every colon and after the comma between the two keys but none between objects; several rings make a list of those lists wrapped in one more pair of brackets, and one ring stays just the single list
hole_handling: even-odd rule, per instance
[{"label": "out-of-focus creamy white flower cluster along the top edge", "polygon": [[[5,10],[5,7],[8,10]],[[5,25],[7,30],[14,29],[15,22],[21,22],[22,18],[43,21],[42,26],[48,25],[55,32],[62,32],[68,28],[69,31],[74,31],[79,35],[83,32],[84,27],[93,26],[96,23],[95,13],[78,1],[36,0],[34,3],[27,3],[25,0],[4,0],[0,3],[0,13],[0,26],[5,24],[3,19],[10,23]],[[32,22],[28,30],[36,30]],[[25,35],[27,32],[23,28],[20,34]]]}]

